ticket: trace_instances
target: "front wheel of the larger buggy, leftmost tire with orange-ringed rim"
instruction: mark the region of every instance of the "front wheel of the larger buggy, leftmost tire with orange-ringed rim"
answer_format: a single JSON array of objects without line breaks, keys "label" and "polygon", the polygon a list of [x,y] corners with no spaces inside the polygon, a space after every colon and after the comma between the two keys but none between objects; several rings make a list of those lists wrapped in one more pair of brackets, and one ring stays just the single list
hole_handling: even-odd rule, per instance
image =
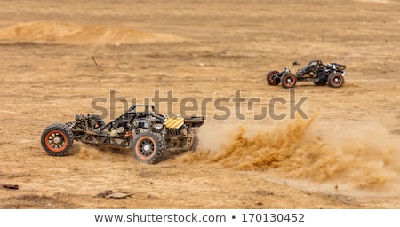
[{"label": "front wheel of the larger buggy, leftmost tire with orange-ringed rim", "polygon": [[74,134],[65,124],[53,123],[42,133],[41,143],[46,153],[64,156],[74,142]]}]

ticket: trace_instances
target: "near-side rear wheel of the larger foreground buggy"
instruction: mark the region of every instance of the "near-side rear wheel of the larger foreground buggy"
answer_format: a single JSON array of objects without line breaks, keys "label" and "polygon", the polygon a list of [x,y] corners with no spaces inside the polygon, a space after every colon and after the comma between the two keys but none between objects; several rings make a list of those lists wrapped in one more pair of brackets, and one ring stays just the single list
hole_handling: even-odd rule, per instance
[{"label": "near-side rear wheel of the larger foreground buggy", "polygon": [[161,134],[141,132],[133,142],[132,152],[136,160],[156,164],[164,158],[166,142]]}]

